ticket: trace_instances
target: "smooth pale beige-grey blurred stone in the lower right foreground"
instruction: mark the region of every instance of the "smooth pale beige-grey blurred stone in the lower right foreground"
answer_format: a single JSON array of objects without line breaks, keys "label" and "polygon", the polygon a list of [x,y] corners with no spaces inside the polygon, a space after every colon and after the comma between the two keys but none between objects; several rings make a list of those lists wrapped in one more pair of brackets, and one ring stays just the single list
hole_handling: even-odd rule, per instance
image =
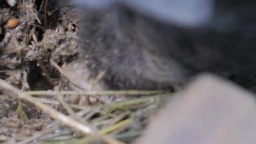
[{"label": "smooth pale beige-grey blurred stone in the lower right foreground", "polygon": [[136,144],[255,144],[253,94],[201,75],[152,120]]}]

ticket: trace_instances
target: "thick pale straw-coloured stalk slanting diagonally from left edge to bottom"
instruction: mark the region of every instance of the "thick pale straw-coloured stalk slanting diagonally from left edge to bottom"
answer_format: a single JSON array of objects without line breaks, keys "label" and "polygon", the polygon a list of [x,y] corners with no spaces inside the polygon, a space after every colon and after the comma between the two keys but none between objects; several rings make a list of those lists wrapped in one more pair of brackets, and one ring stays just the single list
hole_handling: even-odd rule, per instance
[{"label": "thick pale straw-coloured stalk slanting diagonally from left edge to bottom", "polygon": [[104,136],[104,135],[101,135],[99,133],[96,133],[89,126],[83,125],[83,124],[77,122],[76,120],[73,120],[72,118],[61,114],[60,112],[55,111],[54,109],[52,109],[51,107],[48,107],[47,105],[42,104],[38,101],[35,101],[35,99],[32,96],[28,95],[27,93],[23,93],[19,89],[15,88],[11,84],[9,84],[9,83],[5,82],[4,80],[1,80],[1,79],[0,79],[0,87],[5,88],[9,91],[13,91],[13,93],[15,93],[20,99],[24,99],[26,101],[29,101],[30,103],[34,104],[36,107],[42,109],[45,113],[47,113],[48,115],[50,115],[54,119],[59,120],[60,122],[64,123],[65,125],[67,125],[69,127],[75,128],[78,131],[81,131],[82,133],[85,133],[85,134],[99,135],[105,141],[107,141],[109,144],[123,144],[123,142],[121,142],[121,141],[118,141],[116,139],[112,139],[108,136]]}]

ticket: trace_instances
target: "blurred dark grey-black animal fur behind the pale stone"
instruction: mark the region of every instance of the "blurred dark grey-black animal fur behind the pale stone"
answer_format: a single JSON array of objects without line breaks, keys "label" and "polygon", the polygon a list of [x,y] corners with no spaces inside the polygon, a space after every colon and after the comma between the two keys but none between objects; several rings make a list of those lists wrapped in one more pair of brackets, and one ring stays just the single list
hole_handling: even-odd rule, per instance
[{"label": "blurred dark grey-black animal fur behind the pale stone", "polygon": [[84,57],[107,69],[122,89],[166,88],[210,71],[224,77],[256,74],[256,5],[217,0],[208,25],[185,29],[163,24],[120,5],[84,11]]}]

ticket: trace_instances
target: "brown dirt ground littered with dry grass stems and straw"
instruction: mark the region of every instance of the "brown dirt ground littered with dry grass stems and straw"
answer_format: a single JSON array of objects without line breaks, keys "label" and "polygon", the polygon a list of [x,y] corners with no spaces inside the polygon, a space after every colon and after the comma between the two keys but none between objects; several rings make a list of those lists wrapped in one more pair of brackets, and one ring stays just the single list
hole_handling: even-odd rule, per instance
[{"label": "brown dirt ground littered with dry grass stems and straw", "polygon": [[[87,71],[74,63],[79,23],[65,0],[0,0],[0,142],[94,143],[97,131],[129,143],[163,105],[165,95],[126,98],[159,91],[87,93],[79,82]],[[90,90],[101,90],[93,82]]]}]

